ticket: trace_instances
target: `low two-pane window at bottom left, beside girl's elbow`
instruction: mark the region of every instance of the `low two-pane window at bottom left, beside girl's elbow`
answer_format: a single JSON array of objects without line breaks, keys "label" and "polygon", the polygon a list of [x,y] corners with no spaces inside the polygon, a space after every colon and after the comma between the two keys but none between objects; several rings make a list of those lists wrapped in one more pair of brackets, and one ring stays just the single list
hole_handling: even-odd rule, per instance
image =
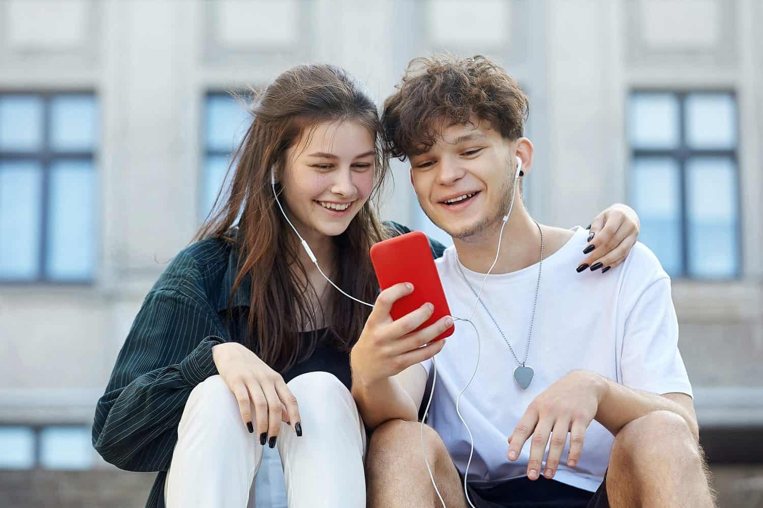
[{"label": "low two-pane window at bottom left, beside girl's elbow", "polygon": [[90,428],[78,425],[2,425],[0,449],[0,469],[89,469],[95,462]]}]

